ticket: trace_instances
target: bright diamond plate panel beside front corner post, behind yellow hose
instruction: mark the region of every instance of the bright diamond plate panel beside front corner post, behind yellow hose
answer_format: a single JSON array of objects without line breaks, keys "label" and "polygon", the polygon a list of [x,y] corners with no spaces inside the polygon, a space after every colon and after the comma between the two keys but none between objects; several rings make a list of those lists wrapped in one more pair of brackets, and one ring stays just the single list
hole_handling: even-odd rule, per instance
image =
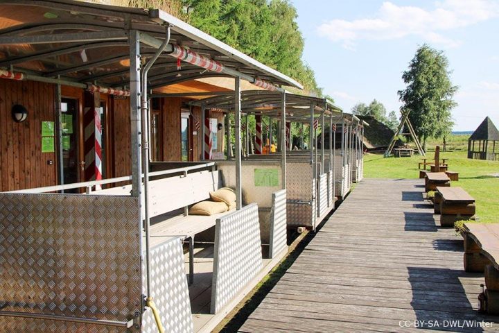
[{"label": "bright diamond plate panel beside front corner post, behind yellow hose", "polygon": [[[145,253],[144,253],[145,255]],[[151,294],[166,332],[194,332],[189,287],[184,268],[180,238],[172,237],[150,250]],[[143,293],[146,294],[146,261],[143,262]],[[143,331],[157,333],[152,311],[146,307],[142,317]]]}]

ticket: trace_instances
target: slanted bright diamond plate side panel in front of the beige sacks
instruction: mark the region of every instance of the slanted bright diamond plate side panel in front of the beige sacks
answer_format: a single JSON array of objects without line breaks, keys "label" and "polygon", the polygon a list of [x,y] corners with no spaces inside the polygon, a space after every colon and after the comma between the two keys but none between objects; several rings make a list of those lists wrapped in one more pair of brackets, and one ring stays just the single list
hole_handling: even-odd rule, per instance
[{"label": "slanted bright diamond plate side panel in front of the beige sacks", "polygon": [[211,314],[227,305],[263,266],[258,205],[252,203],[216,221]]}]

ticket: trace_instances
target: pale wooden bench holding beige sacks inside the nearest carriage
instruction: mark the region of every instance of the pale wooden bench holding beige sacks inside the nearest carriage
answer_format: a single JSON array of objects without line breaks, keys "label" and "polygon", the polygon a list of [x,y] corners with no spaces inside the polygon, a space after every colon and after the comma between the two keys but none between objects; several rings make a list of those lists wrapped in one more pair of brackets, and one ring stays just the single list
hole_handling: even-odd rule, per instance
[{"label": "pale wooden bench holding beige sacks inside the nearest carriage", "polygon": [[[229,212],[211,216],[189,215],[189,206],[209,200],[209,192],[220,185],[219,171],[199,171],[149,182],[150,246],[171,237],[189,241],[189,284],[194,280],[194,237],[216,225],[216,220]],[[132,185],[94,191],[92,194],[127,195]],[[183,212],[178,212],[182,210]],[[172,214],[172,212],[177,212]]]}]

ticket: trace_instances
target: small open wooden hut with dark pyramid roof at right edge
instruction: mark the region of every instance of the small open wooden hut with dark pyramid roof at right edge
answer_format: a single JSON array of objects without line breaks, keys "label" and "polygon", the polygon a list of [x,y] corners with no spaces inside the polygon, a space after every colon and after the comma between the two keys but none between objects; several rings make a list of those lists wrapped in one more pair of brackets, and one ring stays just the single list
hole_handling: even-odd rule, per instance
[{"label": "small open wooden hut with dark pyramid roof at right edge", "polygon": [[486,117],[468,140],[468,158],[475,160],[499,160],[499,130]]}]

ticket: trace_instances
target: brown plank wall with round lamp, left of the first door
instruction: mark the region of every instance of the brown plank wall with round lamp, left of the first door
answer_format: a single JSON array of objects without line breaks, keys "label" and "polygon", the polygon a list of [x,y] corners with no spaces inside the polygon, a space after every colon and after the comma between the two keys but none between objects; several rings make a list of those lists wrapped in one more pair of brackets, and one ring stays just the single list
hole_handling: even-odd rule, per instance
[{"label": "brown plank wall with round lamp, left of the first door", "polygon": [[[42,121],[55,121],[54,89],[49,83],[0,79],[1,191],[56,184],[55,153],[42,153]],[[12,120],[15,104],[28,110],[26,121]]]}]

